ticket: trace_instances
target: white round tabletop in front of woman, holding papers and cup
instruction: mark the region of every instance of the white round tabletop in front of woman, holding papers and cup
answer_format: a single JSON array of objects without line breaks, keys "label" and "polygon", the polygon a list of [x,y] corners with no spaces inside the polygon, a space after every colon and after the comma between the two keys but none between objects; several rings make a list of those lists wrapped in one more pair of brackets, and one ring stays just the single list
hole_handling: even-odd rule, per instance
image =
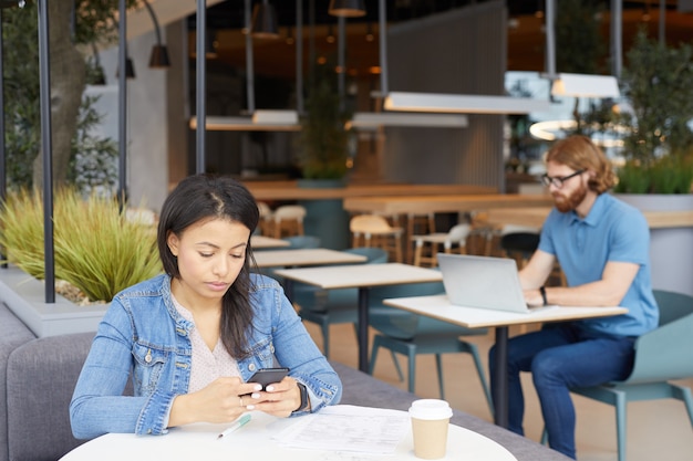
[{"label": "white round tabletop in front of woman, holding papers and cup", "polygon": [[[369,411],[375,409],[369,408]],[[408,418],[406,412],[397,412]],[[165,436],[108,433],[75,448],[65,454],[61,461],[151,461],[157,459],[167,461],[228,461],[231,459],[249,461],[270,459],[282,461],[370,461],[418,459],[413,451],[411,427],[397,444],[394,458],[392,454],[346,450],[309,450],[280,446],[276,436],[303,418],[311,418],[311,416],[285,419],[252,412],[250,422],[224,439],[217,439],[217,437],[228,425],[189,425],[170,429]],[[443,460],[517,461],[503,446],[455,425],[449,426],[447,453]]]}]

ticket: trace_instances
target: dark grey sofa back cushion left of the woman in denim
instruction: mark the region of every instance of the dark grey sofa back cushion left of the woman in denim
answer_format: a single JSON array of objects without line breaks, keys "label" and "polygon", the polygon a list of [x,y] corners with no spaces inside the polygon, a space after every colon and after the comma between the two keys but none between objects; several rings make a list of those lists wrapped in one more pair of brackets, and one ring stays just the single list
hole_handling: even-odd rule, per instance
[{"label": "dark grey sofa back cushion left of the woman in denim", "polygon": [[69,406],[93,337],[93,333],[44,337],[10,354],[10,460],[54,461],[84,442],[72,437]]}]

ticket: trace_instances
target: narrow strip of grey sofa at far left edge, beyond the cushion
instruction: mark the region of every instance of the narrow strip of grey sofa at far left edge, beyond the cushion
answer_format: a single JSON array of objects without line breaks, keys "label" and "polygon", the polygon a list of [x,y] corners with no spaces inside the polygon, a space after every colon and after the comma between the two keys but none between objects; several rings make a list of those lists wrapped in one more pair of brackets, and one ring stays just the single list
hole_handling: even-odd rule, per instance
[{"label": "narrow strip of grey sofa at far left edge, beyond the cushion", "polygon": [[34,339],[33,333],[0,303],[0,461],[8,461],[7,360],[12,350]]}]

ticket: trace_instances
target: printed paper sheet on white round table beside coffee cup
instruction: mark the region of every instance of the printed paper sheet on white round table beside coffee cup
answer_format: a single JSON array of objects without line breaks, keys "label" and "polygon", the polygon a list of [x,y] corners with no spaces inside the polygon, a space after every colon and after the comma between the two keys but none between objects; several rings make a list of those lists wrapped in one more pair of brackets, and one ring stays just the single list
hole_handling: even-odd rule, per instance
[{"label": "printed paper sheet on white round table beside coffee cup", "polygon": [[338,405],[297,418],[275,439],[286,448],[394,454],[408,428],[404,411]]}]

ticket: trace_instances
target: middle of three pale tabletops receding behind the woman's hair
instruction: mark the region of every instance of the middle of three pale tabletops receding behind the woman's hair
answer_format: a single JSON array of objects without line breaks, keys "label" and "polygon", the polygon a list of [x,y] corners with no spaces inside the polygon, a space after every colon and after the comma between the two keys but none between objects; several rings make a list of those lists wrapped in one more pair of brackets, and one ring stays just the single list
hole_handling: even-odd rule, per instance
[{"label": "middle of three pale tabletops receding behind the woman's hair", "polygon": [[291,268],[299,265],[348,264],[368,260],[363,254],[327,248],[307,248],[297,250],[267,250],[258,251],[255,261],[258,268]]}]

